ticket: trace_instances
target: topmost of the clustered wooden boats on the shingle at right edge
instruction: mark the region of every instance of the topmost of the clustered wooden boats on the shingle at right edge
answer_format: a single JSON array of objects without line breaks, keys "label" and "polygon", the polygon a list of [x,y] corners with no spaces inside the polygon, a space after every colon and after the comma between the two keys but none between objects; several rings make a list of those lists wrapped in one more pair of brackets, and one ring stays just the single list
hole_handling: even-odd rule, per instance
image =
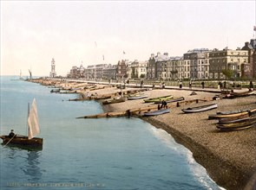
[{"label": "topmost of the clustered wooden boats on the shingle at right edge", "polygon": [[220,119],[227,117],[249,117],[256,114],[256,108],[251,110],[244,111],[226,111],[226,112],[217,112],[214,115],[209,115],[208,119]]}]

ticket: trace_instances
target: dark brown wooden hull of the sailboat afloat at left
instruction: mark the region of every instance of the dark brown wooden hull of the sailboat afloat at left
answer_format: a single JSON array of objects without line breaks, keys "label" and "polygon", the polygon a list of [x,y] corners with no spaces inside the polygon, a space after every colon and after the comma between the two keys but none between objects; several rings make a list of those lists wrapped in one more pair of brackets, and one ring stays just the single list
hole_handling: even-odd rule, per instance
[{"label": "dark brown wooden hull of the sailboat afloat at left", "polygon": [[1,136],[1,138],[3,139],[3,144],[21,145],[30,148],[43,147],[43,138],[34,137],[32,139],[28,139],[28,136],[16,136],[12,139],[9,136]]}]

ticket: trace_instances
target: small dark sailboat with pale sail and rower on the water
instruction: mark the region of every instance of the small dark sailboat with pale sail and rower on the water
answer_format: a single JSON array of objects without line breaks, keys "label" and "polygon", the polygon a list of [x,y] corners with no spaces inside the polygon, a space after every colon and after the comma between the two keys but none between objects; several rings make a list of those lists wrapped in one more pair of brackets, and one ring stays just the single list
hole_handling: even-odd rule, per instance
[{"label": "small dark sailboat with pale sail and rower on the water", "polygon": [[33,99],[33,102],[29,104],[29,116],[28,116],[28,136],[15,135],[10,136],[0,136],[3,139],[3,144],[5,145],[19,145],[25,148],[43,148],[43,138],[34,137],[40,134],[40,127],[38,123],[36,99]]}]

